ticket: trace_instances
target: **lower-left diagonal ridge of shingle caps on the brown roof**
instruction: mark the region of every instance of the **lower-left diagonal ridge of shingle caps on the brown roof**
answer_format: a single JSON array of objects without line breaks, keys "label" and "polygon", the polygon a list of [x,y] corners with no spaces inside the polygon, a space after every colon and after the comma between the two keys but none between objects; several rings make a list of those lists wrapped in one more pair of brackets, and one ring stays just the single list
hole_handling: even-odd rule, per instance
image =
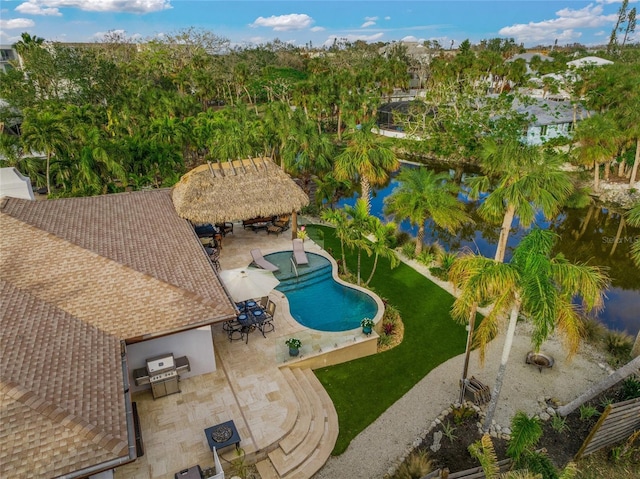
[{"label": "lower-left diagonal ridge of shingle caps on the brown roof", "polygon": [[128,440],[123,440],[100,430],[99,424],[92,424],[51,401],[41,398],[34,391],[15,381],[0,377],[0,392],[36,411],[41,416],[48,418],[53,423],[72,430],[75,435],[85,437],[93,444],[112,454],[122,455],[129,447]]}]

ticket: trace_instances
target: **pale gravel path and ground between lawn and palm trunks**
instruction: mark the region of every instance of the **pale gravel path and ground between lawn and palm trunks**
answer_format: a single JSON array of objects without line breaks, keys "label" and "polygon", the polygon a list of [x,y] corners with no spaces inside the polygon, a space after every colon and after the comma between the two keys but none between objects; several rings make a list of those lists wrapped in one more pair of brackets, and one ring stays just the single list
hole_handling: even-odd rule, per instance
[{"label": "pale gravel path and ground between lawn and palm trunks", "polygon": [[[407,263],[430,277],[422,265],[412,261]],[[450,290],[446,284],[438,283]],[[537,367],[524,361],[531,350],[529,328],[527,324],[519,324],[516,330],[495,415],[495,422],[501,426],[508,426],[517,411],[530,415],[541,412],[538,405],[540,397],[569,402],[610,372],[603,357],[589,345],[583,345],[578,355],[567,360],[556,337],[550,338],[541,348],[541,352],[555,359],[555,365],[539,372]],[[492,387],[503,343],[503,335],[491,342],[484,366],[480,365],[478,354],[472,353],[469,376],[475,376]],[[313,476],[314,479],[382,479],[393,471],[414,445],[421,442],[431,422],[457,402],[463,364],[464,355],[460,355],[431,371],[362,431],[343,454],[329,458]]]}]

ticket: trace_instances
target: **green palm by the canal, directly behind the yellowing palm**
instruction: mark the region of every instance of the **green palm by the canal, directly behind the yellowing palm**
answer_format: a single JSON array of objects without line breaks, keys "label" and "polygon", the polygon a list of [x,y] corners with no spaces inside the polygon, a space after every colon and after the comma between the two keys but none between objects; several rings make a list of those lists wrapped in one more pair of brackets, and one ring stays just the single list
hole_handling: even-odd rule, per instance
[{"label": "green palm by the canal, directly behind the yellowing palm", "polygon": [[483,144],[481,168],[485,176],[469,178],[471,196],[488,191],[491,180],[497,185],[482,203],[478,212],[489,221],[502,218],[502,228],[496,249],[496,261],[504,261],[509,230],[517,215],[520,225],[531,226],[537,209],[551,219],[573,192],[573,184],[562,171],[562,159],[517,140],[498,144],[487,140]]}]

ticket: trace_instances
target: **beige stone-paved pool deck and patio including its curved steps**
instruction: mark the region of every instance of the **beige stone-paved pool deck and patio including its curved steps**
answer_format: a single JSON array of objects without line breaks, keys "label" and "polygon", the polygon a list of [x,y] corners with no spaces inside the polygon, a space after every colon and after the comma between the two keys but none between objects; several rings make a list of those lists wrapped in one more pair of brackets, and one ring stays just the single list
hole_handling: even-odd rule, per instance
[{"label": "beige stone-paved pool deck and patio including its curved steps", "polygon": [[[279,235],[242,228],[222,243],[222,269],[246,267],[250,250],[263,255],[291,250],[291,230]],[[305,250],[328,257],[311,240]],[[233,420],[240,433],[245,463],[256,464],[262,479],[310,478],[329,457],[338,433],[337,415],[329,396],[311,369],[375,352],[376,335],[366,337],[359,328],[344,332],[310,330],[289,314],[279,291],[275,331],[263,338],[259,331],[244,341],[229,342],[222,325],[213,326],[217,370],[180,382],[181,393],[154,400],[151,391],[136,393],[144,456],[115,470],[118,479],[173,478],[196,464],[213,466],[204,429]],[[288,356],[285,339],[302,339],[301,354]],[[194,352],[197,354],[197,352]],[[228,477],[237,456],[233,447],[220,451]]]}]

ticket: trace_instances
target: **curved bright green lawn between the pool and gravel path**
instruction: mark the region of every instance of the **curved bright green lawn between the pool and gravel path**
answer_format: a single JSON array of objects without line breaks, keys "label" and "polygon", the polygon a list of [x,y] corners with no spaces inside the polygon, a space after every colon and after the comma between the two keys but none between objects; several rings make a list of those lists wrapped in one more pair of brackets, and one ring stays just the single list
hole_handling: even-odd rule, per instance
[{"label": "curved bright green lawn between the pool and gravel path", "polygon": [[[310,226],[310,234],[324,236],[324,248],[339,260],[340,243],[332,228]],[[354,273],[356,265],[355,253],[349,255],[347,266]],[[363,255],[363,278],[372,265],[373,257]],[[400,310],[404,341],[384,353],[315,371],[338,412],[340,434],[334,455],[344,452],[355,436],[429,371],[465,348],[466,331],[449,316],[453,296],[413,268],[401,263],[390,269],[388,261],[381,260],[371,287]]]}]

